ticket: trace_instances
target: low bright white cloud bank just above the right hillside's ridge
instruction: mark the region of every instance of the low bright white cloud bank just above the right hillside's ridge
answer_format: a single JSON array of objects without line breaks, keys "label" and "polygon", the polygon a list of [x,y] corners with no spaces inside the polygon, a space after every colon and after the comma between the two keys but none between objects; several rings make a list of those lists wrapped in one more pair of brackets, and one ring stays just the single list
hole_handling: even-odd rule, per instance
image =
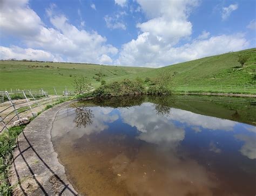
[{"label": "low bright white cloud bank just above the right hillside's ridge", "polygon": [[144,32],[122,46],[116,64],[160,67],[188,60],[246,49],[249,43],[242,34],[213,36],[192,40],[179,47],[161,43],[156,36]]}]

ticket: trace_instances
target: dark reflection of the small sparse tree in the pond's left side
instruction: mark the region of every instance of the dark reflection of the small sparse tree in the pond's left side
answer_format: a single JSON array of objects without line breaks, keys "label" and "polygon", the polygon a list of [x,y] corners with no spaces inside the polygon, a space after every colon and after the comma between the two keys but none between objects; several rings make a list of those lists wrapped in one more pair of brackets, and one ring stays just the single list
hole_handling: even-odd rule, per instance
[{"label": "dark reflection of the small sparse tree in the pond's left side", "polygon": [[[75,106],[76,107],[76,106]],[[76,107],[76,117],[73,120],[76,123],[76,127],[79,129],[81,126],[91,125],[93,123],[92,118],[94,117],[92,110],[86,107]]]}]

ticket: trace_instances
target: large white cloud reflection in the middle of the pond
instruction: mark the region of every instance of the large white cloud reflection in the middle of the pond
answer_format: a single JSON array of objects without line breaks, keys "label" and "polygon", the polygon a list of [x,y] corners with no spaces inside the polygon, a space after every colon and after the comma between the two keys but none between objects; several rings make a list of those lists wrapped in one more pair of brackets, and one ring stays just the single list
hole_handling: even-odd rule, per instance
[{"label": "large white cloud reflection in the middle of the pond", "polygon": [[140,106],[120,108],[124,123],[140,132],[137,137],[148,143],[174,148],[185,138],[185,131],[175,126],[169,117],[156,116],[154,104],[143,103]]}]

